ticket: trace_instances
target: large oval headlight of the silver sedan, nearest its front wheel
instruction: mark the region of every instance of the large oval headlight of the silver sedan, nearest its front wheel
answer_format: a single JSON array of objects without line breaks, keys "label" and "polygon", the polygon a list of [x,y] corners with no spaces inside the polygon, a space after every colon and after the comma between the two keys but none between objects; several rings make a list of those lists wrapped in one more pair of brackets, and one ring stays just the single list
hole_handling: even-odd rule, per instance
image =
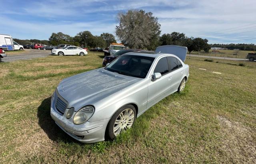
[{"label": "large oval headlight of the silver sedan, nearest its front wheel", "polygon": [[87,105],[79,109],[74,115],[73,122],[74,124],[82,124],[85,123],[90,117],[92,117],[94,113],[94,107],[91,105]]}]

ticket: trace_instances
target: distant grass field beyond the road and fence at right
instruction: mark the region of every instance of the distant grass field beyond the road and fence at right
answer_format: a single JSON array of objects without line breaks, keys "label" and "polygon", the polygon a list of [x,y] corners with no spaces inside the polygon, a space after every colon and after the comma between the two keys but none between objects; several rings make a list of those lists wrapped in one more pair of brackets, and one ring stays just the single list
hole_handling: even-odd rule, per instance
[{"label": "distant grass field beyond the road and fence at right", "polygon": [[220,51],[220,53],[212,53],[212,49],[210,49],[209,53],[205,53],[204,51],[192,51],[191,54],[196,55],[204,55],[204,56],[216,56],[216,57],[232,57],[232,58],[242,58],[244,59],[248,53],[256,53],[256,51],[238,51],[237,55],[235,54],[234,50],[217,50]]}]

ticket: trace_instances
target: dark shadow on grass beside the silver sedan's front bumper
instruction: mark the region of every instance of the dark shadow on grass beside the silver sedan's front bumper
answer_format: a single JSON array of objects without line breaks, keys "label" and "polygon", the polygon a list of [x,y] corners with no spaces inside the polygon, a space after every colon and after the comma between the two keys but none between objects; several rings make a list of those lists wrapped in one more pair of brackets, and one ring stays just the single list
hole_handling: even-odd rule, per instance
[{"label": "dark shadow on grass beside the silver sedan's front bumper", "polygon": [[50,115],[50,106],[51,106],[51,97],[48,97],[42,101],[40,106],[38,107],[37,117],[38,124],[44,130],[44,132],[48,135],[48,137],[57,142],[64,143],[77,143],[74,138],[70,137],[66,134],[58,125],[54,122]]}]

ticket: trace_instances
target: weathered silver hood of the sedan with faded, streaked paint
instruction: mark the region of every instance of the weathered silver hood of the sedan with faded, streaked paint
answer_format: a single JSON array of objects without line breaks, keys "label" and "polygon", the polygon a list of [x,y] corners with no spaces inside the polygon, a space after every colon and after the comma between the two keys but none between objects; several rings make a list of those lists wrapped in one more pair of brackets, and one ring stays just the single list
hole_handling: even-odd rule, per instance
[{"label": "weathered silver hood of the sedan with faded, streaked paint", "polygon": [[[140,80],[100,68],[68,77],[60,82],[57,89],[59,95],[68,102],[68,108],[80,108],[94,105]],[[78,110],[76,107],[75,111]]]}]

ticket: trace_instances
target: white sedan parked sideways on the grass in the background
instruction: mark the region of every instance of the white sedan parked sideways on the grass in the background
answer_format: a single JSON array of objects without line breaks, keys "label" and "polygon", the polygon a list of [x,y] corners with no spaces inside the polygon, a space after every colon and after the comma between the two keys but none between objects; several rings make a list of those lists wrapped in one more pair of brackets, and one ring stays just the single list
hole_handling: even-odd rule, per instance
[{"label": "white sedan parked sideways on the grass in the background", "polygon": [[84,56],[87,55],[88,52],[85,49],[82,49],[80,47],[76,46],[68,46],[68,47],[63,47],[59,49],[52,49],[52,55],[80,55]]}]

